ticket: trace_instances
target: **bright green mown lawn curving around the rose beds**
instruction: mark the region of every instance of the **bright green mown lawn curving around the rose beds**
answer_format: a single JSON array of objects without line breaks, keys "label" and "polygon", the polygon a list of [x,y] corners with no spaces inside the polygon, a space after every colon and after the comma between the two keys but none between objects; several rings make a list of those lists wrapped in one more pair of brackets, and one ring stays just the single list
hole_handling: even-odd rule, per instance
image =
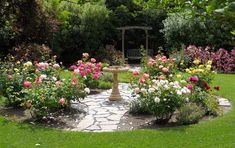
[{"label": "bright green mown lawn curving around the rose beds", "polygon": [[[219,74],[220,95],[235,104],[235,75]],[[235,109],[197,125],[112,133],[69,132],[0,118],[0,147],[235,147]]]}]

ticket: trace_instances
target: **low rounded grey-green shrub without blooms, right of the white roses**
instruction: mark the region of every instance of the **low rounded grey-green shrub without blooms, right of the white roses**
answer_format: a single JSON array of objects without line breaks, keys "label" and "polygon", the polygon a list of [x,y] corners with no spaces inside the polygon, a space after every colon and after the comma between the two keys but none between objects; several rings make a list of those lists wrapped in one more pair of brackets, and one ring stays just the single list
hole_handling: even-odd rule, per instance
[{"label": "low rounded grey-green shrub without blooms, right of the white roses", "polygon": [[204,112],[196,103],[187,103],[179,108],[176,119],[180,124],[195,124],[203,117]]}]

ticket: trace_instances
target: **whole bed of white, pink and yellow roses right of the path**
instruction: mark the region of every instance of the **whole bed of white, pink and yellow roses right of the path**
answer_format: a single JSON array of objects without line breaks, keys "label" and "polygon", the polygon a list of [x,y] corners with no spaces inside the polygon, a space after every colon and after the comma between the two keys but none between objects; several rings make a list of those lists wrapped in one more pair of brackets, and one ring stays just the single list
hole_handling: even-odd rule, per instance
[{"label": "whole bed of white, pink and yellow roses right of the path", "polygon": [[[210,86],[214,73],[211,71],[212,61],[200,62],[194,60],[193,66],[185,70],[187,74],[182,75],[177,71],[174,58],[158,55],[155,59],[149,59],[142,72],[133,72],[131,84],[134,101],[130,111],[155,115],[156,121],[161,124],[167,123],[176,111],[180,112],[179,116],[185,115],[185,112],[188,116],[194,114],[190,112],[192,107],[200,108],[195,111],[203,110],[200,112],[203,115],[218,115],[218,103],[213,93],[219,87]],[[185,107],[187,104],[193,105]],[[195,116],[196,121],[203,115]],[[191,123],[191,118],[190,121],[182,118],[178,117],[182,124]],[[192,120],[195,122],[195,119]]]}]

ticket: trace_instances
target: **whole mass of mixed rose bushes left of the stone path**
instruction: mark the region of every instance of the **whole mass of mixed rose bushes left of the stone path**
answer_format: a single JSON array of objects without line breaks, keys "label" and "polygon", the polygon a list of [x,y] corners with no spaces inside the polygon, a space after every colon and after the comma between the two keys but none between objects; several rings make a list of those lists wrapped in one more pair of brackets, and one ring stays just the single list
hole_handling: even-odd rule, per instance
[{"label": "whole mass of mixed rose bushes left of the stone path", "polygon": [[[8,106],[29,109],[41,119],[49,113],[65,109],[71,100],[79,100],[88,94],[82,78],[62,79],[62,65],[49,61],[14,61],[9,57],[1,62],[1,91]],[[76,67],[77,68],[77,67]]]}]

